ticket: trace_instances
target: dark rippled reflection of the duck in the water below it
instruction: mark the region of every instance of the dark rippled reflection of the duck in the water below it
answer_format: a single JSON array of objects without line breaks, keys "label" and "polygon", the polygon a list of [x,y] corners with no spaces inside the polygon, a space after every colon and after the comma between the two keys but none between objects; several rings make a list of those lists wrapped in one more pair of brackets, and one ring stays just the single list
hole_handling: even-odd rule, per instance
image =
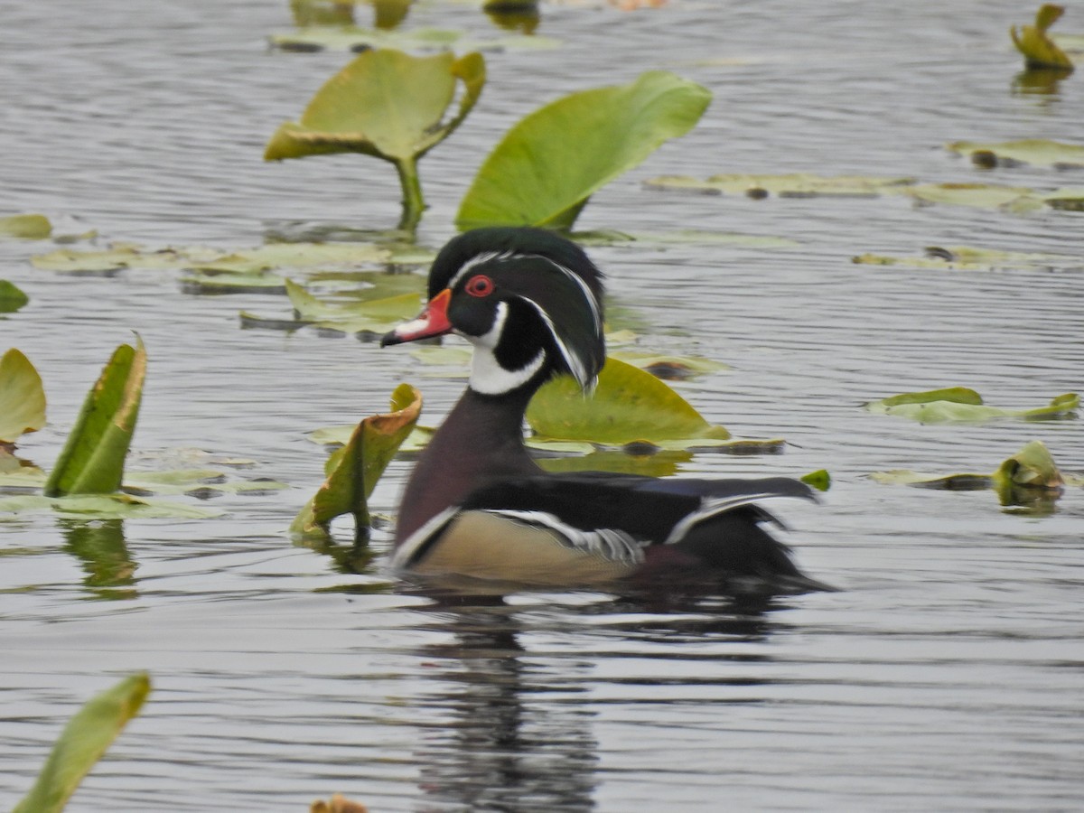
[{"label": "dark rippled reflection of the duck in the water below it", "polygon": [[[782,606],[769,595],[670,593],[589,596],[554,608],[542,601],[509,605],[499,595],[423,592],[435,599],[428,608],[434,628],[453,640],[421,651],[436,662],[428,675],[440,686],[427,700],[450,714],[416,754],[422,811],[594,809],[597,712],[588,697],[599,656],[589,647],[570,653],[559,643],[566,634],[582,636],[584,616],[603,621],[595,629],[610,643],[615,636],[632,645],[720,636],[748,642],[767,637],[765,614]],[[546,637],[558,643],[540,643]]]}]

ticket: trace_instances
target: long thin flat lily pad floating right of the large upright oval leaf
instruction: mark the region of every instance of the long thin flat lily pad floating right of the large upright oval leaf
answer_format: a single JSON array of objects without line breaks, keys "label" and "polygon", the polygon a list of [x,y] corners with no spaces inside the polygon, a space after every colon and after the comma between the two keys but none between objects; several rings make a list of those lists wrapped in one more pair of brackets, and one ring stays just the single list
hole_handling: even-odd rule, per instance
[{"label": "long thin flat lily pad floating right of the large upright oval leaf", "polygon": [[901,186],[914,183],[914,178],[825,177],[810,172],[787,175],[733,172],[713,175],[707,180],[691,176],[659,176],[645,181],[648,189],[715,195],[726,192],[753,198],[766,197],[770,194],[779,197],[877,197],[882,194],[894,194]]}]

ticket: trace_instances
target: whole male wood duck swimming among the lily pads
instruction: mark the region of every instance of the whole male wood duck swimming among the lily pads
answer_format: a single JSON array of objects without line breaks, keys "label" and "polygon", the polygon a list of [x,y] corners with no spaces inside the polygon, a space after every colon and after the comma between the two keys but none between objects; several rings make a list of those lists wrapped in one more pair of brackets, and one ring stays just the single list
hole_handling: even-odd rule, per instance
[{"label": "whole male wood duck swimming among the lily pads", "polygon": [[474,357],[466,391],[406,483],[393,566],[535,585],[711,573],[822,586],[764,530],[775,519],[757,505],[813,499],[798,480],[550,474],[531,460],[531,396],[563,374],[589,390],[606,359],[603,274],[575,243],[541,229],[465,232],[437,255],[428,297],[380,346],[455,333]]}]

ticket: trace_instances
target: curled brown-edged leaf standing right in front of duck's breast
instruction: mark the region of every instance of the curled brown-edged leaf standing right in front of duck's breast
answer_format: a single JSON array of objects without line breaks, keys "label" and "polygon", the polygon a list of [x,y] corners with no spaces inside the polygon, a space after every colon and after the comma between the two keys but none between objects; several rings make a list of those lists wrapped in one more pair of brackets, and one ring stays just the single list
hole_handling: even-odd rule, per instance
[{"label": "curled brown-edged leaf standing right in front of duck's breast", "polygon": [[391,412],[364,418],[347,444],[328,457],[327,479],[294,518],[291,531],[305,539],[326,539],[332,519],[352,514],[358,541],[363,540],[371,522],[373,488],[421,412],[421,393],[400,384],[391,393]]}]

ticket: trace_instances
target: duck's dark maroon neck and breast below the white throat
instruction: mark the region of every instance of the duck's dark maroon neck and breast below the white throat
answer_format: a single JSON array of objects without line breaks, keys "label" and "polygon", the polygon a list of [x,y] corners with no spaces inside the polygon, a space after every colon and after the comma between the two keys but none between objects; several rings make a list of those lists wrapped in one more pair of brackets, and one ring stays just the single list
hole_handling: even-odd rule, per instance
[{"label": "duck's dark maroon neck and breast below the white throat", "polygon": [[396,544],[487,480],[541,472],[524,447],[524,413],[537,389],[490,396],[467,388],[411,473]]}]

